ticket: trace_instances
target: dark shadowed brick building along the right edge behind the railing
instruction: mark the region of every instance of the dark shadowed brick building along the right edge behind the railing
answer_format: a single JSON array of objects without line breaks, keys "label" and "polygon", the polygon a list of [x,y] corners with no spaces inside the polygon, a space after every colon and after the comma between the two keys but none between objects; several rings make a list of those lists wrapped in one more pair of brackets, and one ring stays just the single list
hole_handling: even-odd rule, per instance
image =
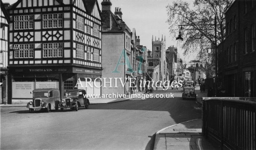
[{"label": "dark shadowed brick building along the right edge behind the railing", "polygon": [[256,1],[235,0],[226,11],[226,39],[218,45],[219,87],[230,97],[256,96]]}]

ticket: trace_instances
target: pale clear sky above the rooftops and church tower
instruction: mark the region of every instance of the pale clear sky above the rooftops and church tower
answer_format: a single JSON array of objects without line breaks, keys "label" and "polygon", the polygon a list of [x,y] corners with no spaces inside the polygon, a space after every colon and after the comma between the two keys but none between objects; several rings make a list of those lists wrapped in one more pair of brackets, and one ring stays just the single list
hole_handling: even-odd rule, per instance
[{"label": "pale clear sky above the rooftops and church tower", "polygon": [[[15,3],[17,0],[2,0],[3,2]],[[167,21],[168,4],[172,4],[174,0],[110,0],[112,2],[112,12],[115,7],[121,8],[123,13],[122,19],[128,25],[130,30],[135,28],[136,36],[140,36],[140,44],[147,46],[152,50],[152,35],[158,39],[166,36],[166,49],[174,45],[178,47],[178,53],[183,61],[195,59],[195,56],[189,55],[184,57],[183,50],[177,45],[176,37],[170,36],[169,25]],[[192,0],[186,0],[191,3]],[[102,0],[98,0],[101,9]]]}]

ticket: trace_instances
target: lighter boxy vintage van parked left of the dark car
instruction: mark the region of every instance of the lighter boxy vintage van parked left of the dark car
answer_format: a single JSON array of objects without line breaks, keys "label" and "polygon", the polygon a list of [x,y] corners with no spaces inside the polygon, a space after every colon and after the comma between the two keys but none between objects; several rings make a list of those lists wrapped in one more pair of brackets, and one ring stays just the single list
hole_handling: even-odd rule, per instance
[{"label": "lighter boxy vintage van parked left of the dark car", "polygon": [[33,90],[33,101],[28,102],[27,108],[31,113],[33,110],[51,110],[59,109],[61,100],[59,89],[35,89]]}]

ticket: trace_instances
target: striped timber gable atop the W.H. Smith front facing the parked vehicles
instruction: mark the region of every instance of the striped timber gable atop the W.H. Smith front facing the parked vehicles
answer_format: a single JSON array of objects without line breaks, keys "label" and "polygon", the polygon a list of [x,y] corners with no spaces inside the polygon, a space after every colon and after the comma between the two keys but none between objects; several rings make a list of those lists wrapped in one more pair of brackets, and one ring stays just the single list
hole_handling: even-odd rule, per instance
[{"label": "striped timber gable atop the W.H. Smith front facing the parked vehicles", "polygon": [[18,0],[15,4],[13,4],[13,8],[55,5],[60,5],[59,0]]}]

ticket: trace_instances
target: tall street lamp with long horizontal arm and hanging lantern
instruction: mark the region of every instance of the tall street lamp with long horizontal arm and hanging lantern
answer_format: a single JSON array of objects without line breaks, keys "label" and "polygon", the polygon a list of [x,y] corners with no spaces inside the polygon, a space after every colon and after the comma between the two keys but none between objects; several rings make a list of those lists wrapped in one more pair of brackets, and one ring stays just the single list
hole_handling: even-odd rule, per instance
[{"label": "tall street lamp with long horizontal arm and hanging lantern", "polygon": [[[192,25],[179,25],[182,29],[182,26],[194,26],[194,25],[210,25],[215,27],[215,96],[217,95],[217,17],[214,18],[214,24],[192,24]],[[176,40],[183,40],[179,32]]]}]

